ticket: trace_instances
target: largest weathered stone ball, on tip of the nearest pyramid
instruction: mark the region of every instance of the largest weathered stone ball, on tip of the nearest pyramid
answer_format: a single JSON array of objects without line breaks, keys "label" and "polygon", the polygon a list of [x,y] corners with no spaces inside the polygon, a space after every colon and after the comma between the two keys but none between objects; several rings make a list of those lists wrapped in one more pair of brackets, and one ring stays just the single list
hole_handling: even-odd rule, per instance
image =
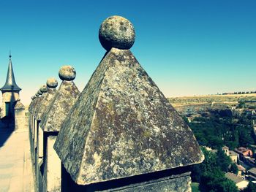
[{"label": "largest weathered stone ball, on tip of the nearest pyramid", "polygon": [[100,26],[99,42],[107,51],[112,47],[129,50],[135,42],[135,28],[126,18],[112,16]]}]

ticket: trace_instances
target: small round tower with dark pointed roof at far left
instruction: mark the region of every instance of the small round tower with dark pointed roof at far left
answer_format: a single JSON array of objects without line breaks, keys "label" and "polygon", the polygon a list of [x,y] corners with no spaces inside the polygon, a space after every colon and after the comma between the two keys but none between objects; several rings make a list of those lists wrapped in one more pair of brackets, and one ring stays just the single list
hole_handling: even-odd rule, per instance
[{"label": "small round tower with dark pointed roof at far left", "polygon": [[19,99],[21,88],[15,82],[12,69],[12,55],[9,55],[9,66],[7,71],[7,80],[2,88],[0,88],[2,96],[1,118],[5,116],[12,117],[14,115],[14,107]]}]

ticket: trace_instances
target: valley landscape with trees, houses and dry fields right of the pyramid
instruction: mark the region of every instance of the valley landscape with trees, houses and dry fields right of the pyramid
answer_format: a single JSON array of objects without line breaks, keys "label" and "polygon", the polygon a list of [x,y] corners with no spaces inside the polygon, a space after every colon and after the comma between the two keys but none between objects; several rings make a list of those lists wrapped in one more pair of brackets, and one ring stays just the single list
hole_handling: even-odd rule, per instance
[{"label": "valley landscape with trees, houses and dry fields right of the pyramid", "polygon": [[[256,167],[256,93],[168,100],[192,129],[206,158],[192,170],[192,191],[256,191],[251,175]],[[252,154],[244,155],[244,150]],[[232,160],[233,154],[237,158]]]}]

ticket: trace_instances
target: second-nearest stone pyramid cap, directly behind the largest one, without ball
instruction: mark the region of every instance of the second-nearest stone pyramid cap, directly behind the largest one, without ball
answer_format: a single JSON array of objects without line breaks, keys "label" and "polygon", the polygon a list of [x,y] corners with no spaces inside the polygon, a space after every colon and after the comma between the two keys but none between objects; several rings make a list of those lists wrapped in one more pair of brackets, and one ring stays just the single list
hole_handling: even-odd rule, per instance
[{"label": "second-nearest stone pyramid cap, directly behind the largest one, without ball", "polygon": [[79,95],[80,91],[75,83],[64,80],[41,117],[41,128],[44,131],[59,131],[61,123]]}]

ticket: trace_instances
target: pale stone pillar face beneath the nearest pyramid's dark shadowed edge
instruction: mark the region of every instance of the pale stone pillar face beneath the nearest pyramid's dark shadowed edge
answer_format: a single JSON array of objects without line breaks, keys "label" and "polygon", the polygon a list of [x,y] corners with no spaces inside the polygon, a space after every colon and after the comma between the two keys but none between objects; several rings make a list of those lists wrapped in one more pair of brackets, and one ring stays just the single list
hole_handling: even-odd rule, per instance
[{"label": "pale stone pillar face beneath the nearest pyramid's dark shadowed edge", "polygon": [[[173,175],[159,180],[150,180],[148,182],[127,185],[123,188],[114,188],[110,191],[134,192],[134,191],[154,191],[154,192],[189,192],[191,191],[191,178],[189,174]],[[103,192],[103,191],[102,191]]]}]

